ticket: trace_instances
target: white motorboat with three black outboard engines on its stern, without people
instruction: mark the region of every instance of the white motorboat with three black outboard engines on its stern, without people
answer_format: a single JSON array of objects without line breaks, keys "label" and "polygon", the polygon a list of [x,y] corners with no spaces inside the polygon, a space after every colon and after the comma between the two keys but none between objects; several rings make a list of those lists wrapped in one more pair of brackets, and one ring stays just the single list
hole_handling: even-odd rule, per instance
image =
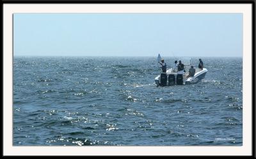
[{"label": "white motorboat with three black outboard engines on its stern, without people", "polygon": [[[161,56],[158,55],[157,61],[161,59]],[[174,70],[173,68],[170,68],[166,71],[166,73],[161,73],[160,75],[157,75],[155,78],[155,82],[157,86],[173,86],[173,85],[183,85],[183,84],[196,84],[198,82],[201,82],[202,79],[204,79],[207,69],[203,68],[196,68],[195,69],[195,75],[193,77],[188,77],[188,66],[191,66],[191,61],[189,60],[189,64],[184,65],[184,70],[182,72],[177,72],[177,70]],[[188,78],[187,78],[188,77]]]}]

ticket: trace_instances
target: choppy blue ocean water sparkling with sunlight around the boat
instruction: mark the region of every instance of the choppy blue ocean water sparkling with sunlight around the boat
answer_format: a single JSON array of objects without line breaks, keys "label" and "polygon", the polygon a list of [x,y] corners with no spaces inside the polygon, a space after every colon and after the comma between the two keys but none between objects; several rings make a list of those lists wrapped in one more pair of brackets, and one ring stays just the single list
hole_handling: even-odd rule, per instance
[{"label": "choppy blue ocean water sparkling with sunlight around the boat", "polygon": [[202,82],[156,87],[156,57],[14,57],[13,145],[241,146],[243,59],[200,58]]}]

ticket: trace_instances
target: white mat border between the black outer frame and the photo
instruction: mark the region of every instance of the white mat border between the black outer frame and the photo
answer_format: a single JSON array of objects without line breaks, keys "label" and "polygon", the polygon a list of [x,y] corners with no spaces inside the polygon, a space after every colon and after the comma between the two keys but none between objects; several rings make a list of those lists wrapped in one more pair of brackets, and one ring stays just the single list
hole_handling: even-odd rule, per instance
[{"label": "white mat border between the black outer frame and the photo", "polygon": [[[243,146],[13,146],[13,13],[243,13]],[[251,156],[252,4],[3,4],[4,156]]]}]

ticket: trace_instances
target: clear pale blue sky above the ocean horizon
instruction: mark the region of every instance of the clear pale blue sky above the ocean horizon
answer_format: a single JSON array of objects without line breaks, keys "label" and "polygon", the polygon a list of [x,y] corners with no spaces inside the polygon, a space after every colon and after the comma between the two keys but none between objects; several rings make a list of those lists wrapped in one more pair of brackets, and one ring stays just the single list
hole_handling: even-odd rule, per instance
[{"label": "clear pale blue sky above the ocean horizon", "polygon": [[15,13],[14,56],[242,57],[242,13]]}]

